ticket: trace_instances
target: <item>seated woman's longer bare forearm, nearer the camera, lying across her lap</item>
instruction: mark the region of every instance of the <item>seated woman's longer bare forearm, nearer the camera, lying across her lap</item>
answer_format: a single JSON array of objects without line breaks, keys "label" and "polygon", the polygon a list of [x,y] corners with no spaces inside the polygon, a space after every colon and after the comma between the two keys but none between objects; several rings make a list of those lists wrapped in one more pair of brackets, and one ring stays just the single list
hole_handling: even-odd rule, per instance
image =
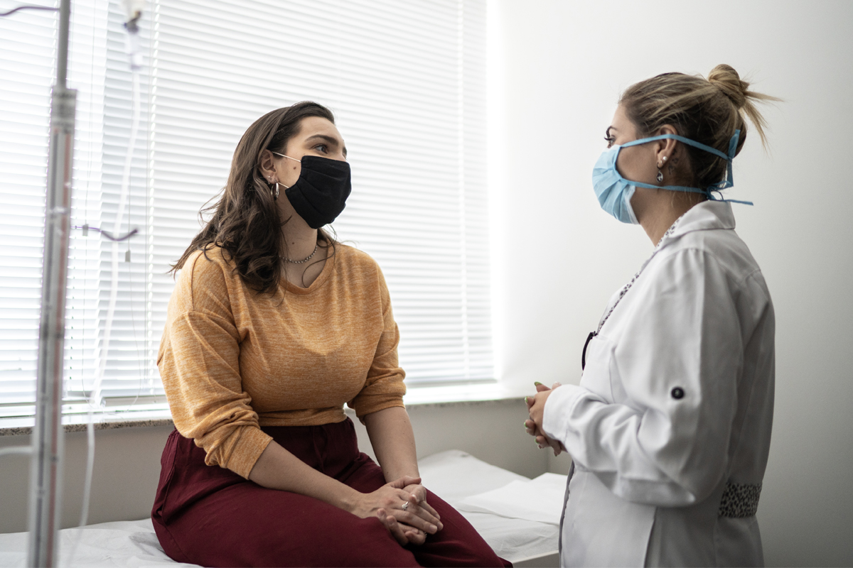
[{"label": "seated woman's longer bare forearm, nearer the camera, lying across her lap", "polygon": [[249,479],[268,489],[292,491],[353,513],[361,493],[311,468],[276,442],[258,457]]}]

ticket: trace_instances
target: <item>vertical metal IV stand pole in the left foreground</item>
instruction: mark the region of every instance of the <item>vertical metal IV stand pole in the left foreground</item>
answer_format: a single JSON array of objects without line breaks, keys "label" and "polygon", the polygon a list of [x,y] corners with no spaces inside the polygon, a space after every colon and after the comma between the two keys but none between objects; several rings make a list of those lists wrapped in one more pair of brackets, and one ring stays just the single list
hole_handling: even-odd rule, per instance
[{"label": "vertical metal IV stand pole in the left foreground", "polygon": [[50,103],[47,203],[44,210],[42,311],[38,330],[38,391],[30,468],[30,545],[27,564],[58,562],[62,480],[62,369],[74,111],[77,91],[66,89],[71,0],[61,0],[56,84]]}]

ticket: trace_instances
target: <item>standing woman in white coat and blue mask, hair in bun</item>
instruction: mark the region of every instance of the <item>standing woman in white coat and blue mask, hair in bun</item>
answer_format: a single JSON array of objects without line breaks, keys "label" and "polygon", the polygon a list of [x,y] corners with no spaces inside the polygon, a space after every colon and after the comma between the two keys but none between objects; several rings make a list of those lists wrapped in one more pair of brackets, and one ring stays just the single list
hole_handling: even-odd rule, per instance
[{"label": "standing woman in white coat and blue mask, hair in bun", "polygon": [[763,565],[775,319],[734,232],[732,159],[754,102],[730,66],[627,89],[593,184],[655,245],[583,347],[580,385],[537,387],[528,433],[567,450],[564,566]]}]

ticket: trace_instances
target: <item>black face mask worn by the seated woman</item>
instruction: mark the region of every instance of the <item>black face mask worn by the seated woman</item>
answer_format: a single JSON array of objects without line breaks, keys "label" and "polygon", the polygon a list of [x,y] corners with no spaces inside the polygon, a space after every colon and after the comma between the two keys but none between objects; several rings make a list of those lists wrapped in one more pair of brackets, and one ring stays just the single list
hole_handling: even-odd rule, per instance
[{"label": "black face mask worn by the seated woman", "polygon": [[346,206],[352,190],[350,164],[320,156],[303,156],[301,164],[299,180],[284,194],[308,226],[319,229],[334,221]]}]

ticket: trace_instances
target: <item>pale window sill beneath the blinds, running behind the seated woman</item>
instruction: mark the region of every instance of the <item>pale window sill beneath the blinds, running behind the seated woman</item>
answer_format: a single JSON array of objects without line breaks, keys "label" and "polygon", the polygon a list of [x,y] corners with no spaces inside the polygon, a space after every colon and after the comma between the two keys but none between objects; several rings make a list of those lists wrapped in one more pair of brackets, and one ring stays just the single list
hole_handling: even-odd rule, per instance
[{"label": "pale window sill beneath the blinds, running behind the seated woman", "polygon": [[[499,382],[469,383],[461,385],[408,387],[403,402],[407,407],[448,406],[456,404],[484,404],[501,400],[521,399],[527,392],[519,388],[502,385]],[[348,412],[350,409],[346,409]],[[35,418],[15,417],[0,419],[0,437],[29,436]],[[85,432],[88,417],[85,414],[74,414],[62,417],[62,425],[66,433]],[[172,426],[171,413],[168,409],[145,409],[113,411],[95,416],[96,430],[113,430],[128,427],[162,427]]]}]

